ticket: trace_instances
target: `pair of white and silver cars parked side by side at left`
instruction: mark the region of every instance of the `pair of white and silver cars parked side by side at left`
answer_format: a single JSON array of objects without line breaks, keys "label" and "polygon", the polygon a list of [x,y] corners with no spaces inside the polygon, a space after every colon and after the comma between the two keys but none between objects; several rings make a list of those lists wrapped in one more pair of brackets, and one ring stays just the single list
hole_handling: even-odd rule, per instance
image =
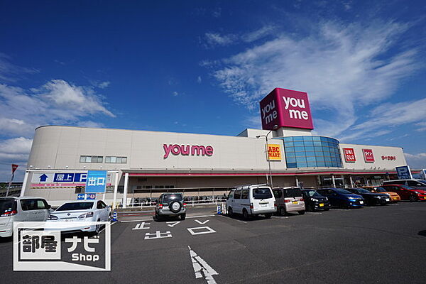
[{"label": "pair of white and silver cars parked side by side at left", "polygon": [[[0,237],[13,234],[13,222],[109,222],[111,207],[102,200],[65,202],[51,209],[40,197],[0,197]],[[101,226],[67,226],[65,231],[99,233]]]}]

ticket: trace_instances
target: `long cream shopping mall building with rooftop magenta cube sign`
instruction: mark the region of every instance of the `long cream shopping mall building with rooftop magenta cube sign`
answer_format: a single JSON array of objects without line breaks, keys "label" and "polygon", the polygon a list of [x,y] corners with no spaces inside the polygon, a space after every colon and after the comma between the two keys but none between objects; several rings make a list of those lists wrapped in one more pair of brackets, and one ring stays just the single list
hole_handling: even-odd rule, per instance
[{"label": "long cream shopping mall building with rooftop magenta cube sign", "polygon": [[[237,136],[41,126],[35,129],[25,195],[53,205],[84,192],[87,170],[108,170],[107,202],[180,191],[222,196],[236,185],[378,185],[406,165],[403,149],[312,135],[307,93],[273,89],[260,102],[262,128]],[[268,147],[266,147],[268,142]],[[268,151],[266,151],[268,148]]]}]

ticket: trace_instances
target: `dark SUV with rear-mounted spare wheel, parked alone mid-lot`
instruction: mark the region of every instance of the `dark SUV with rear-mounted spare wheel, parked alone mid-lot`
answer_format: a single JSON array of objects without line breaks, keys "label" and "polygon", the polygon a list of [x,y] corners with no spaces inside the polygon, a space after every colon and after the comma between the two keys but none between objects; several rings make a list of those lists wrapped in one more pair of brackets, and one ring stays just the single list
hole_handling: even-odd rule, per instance
[{"label": "dark SUV with rear-mounted spare wheel, parked alone mid-lot", "polygon": [[185,220],[186,203],[183,202],[182,193],[163,193],[155,205],[155,219],[161,217],[180,217]]}]

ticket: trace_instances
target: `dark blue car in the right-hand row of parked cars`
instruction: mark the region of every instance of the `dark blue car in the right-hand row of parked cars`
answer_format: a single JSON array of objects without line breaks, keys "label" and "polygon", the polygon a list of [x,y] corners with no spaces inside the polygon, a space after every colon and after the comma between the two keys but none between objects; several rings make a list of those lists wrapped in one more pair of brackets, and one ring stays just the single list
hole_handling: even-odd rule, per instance
[{"label": "dark blue car in the right-hand row of parked cars", "polygon": [[341,188],[322,188],[317,192],[327,197],[334,207],[356,208],[363,207],[366,204],[361,195],[354,195]]}]

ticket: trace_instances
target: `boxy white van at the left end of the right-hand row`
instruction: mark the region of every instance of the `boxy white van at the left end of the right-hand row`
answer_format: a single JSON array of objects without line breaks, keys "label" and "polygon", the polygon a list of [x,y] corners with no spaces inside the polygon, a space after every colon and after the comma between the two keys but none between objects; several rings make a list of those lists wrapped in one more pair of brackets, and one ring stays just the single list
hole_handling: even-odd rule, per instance
[{"label": "boxy white van at the left end of the right-hand row", "polygon": [[272,214],[277,211],[275,197],[268,185],[236,187],[229,192],[226,209],[228,209],[229,215],[243,214],[244,219],[258,214],[265,214],[266,218],[271,218]]}]

